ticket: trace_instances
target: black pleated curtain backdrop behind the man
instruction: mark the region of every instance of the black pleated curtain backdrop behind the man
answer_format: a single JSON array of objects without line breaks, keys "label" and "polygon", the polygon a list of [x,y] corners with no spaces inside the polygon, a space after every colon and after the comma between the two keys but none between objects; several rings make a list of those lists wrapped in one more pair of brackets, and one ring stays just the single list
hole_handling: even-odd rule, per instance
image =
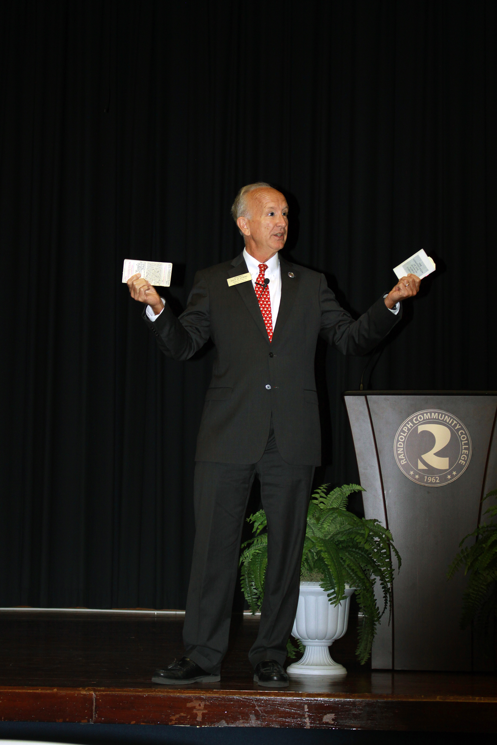
[{"label": "black pleated curtain backdrop behind the man", "polygon": [[[2,606],[184,607],[212,350],[162,357],[121,270],[172,261],[179,313],[241,251],[244,183],[285,191],[287,255],[354,314],[437,262],[367,387],[497,387],[496,10],[1,3]],[[358,478],[366,362],[318,346],[317,481]]]}]

